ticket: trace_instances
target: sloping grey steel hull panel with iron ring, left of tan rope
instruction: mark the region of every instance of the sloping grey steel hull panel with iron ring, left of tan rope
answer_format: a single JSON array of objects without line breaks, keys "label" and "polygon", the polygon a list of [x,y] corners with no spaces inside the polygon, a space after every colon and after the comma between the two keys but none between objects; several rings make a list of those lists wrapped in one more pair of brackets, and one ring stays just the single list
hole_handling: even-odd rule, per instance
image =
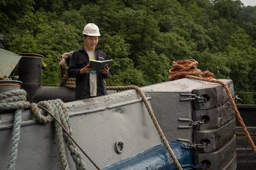
[{"label": "sloping grey steel hull panel with iron ring, left of tan rope", "polygon": [[[160,137],[141,98],[133,90],[66,103],[73,136],[92,160],[103,168],[160,144]],[[23,112],[17,169],[58,169],[53,124],[40,125]],[[8,164],[13,116],[1,114],[0,169]],[[114,144],[124,141],[123,153]],[[67,151],[71,169],[73,160]],[[86,160],[88,169],[95,169]]]}]

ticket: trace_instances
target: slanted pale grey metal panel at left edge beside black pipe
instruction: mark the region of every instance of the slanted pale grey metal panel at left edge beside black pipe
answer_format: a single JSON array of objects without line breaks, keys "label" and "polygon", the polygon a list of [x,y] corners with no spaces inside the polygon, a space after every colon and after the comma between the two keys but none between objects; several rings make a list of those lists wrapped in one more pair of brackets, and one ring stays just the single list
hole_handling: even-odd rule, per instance
[{"label": "slanted pale grey metal panel at left edge beside black pipe", "polygon": [[0,49],[0,77],[8,77],[21,59],[21,56],[8,50]]}]

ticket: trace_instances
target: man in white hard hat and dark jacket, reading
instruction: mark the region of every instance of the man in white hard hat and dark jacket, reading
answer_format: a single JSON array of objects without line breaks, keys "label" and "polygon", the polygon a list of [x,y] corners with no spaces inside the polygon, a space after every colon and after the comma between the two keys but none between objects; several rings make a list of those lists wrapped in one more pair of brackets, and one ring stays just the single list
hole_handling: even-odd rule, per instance
[{"label": "man in white hard hat and dark jacket, reading", "polygon": [[85,47],[73,52],[69,61],[69,77],[76,77],[76,100],[107,95],[103,78],[109,77],[109,68],[105,66],[96,72],[89,66],[89,61],[106,60],[107,56],[101,50],[96,49],[98,44],[99,27],[89,23],[83,29],[83,42]]}]

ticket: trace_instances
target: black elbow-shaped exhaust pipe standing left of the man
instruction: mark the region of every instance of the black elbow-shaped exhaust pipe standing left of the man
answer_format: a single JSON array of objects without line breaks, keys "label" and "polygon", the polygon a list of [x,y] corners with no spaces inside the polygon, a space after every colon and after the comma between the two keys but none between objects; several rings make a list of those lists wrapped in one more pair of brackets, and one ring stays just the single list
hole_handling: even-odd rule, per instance
[{"label": "black elbow-shaped exhaust pipe standing left of the man", "polygon": [[27,91],[29,102],[54,100],[60,98],[64,102],[74,101],[74,89],[65,87],[41,86],[42,57],[40,54],[22,53],[18,65],[19,81],[21,87]]}]

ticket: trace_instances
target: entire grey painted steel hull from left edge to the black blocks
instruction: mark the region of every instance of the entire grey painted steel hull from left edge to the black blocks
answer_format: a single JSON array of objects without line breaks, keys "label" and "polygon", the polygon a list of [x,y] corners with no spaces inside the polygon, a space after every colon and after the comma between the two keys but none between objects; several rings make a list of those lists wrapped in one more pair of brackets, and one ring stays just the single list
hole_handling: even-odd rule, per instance
[{"label": "entire grey painted steel hull from left edge to the black blocks", "polygon": [[[230,89],[233,88],[232,81],[221,81],[230,84]],[[226,102],[227,99],[223,97],[214,99],[224,94],[223,88],[220,84],[210,82],[180,79],[141,88],[146,93],[168,141],[176,141],[178,138],[193,141],[192,128],[179,128],[179,126],[189,125],[189,122],[178,121],[178,119],[192,120],[196,99],[181,101],[181,99],[189,98],[182,94],[192,94],[194,89],[198,89],[200,95],[203,95],[203,89],[207,87],[213,91],[213,95],[207,102],[217,101],[216,105]],[[234,90],[232,94],[234,95]],[[218,101],[221,102],[218,103]],[[206,105],[209,105],[207,102]],[[78,100],[66,103],[66,105],[74,139],[100,168],[162,143],[146,107],[134,90]],[[205,106],[200,103],[198,107]],[[0,114],[0,169],[7,167],[12,121],[12,114]],[[20,167],[19,169],[58,169],[59,161],[56,156],[54,136],[52,123],[40,125],[33,120],[29,110],[24,111],[16,167]],[[114,144],[117,141],[124,141],[121,154],[115,153],[114,150]],[[69,151],[67,153],[69,163],[72,165],[71,169],[74,169]],[[83,158],[88,169],[95,169],[87,158]]]}]

